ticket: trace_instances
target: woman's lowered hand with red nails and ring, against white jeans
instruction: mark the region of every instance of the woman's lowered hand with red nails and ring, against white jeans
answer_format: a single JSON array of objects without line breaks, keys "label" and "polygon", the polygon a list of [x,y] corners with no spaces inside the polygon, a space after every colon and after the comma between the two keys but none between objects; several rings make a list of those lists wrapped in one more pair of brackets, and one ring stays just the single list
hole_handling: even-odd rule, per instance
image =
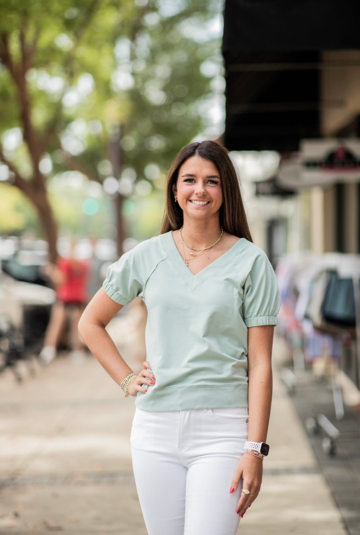
[{"label": "woman's lowered hand with red nails and ring, against white jeans", "polygon": [[254,496],[250,496],[250,494],[241,493],[238,505],[236,506],[236,513],[239,513],[242,518],[247,508],[256,500],[260,492],[263,480],[263,460],[250,453],[244,453],[236,465],[231,483],[234,491],[238,488],[241,478],[243,479],[242,488],[244,490],[247,488],[250,494],[254,494]]}]

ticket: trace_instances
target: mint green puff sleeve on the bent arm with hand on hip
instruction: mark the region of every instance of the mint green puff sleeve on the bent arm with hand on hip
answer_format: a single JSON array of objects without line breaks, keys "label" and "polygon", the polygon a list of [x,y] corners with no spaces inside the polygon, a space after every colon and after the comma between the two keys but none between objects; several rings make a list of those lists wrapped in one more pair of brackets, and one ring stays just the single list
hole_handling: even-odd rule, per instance
[{"label": "mint green puff sleeve on the bent arm with hand on hip", "polygon": [[125,305],[142,296],[142,263],[137,258],[137,247],[124,253],[117,262],[111,264],[106,272],[103,288],[113,301]]}]

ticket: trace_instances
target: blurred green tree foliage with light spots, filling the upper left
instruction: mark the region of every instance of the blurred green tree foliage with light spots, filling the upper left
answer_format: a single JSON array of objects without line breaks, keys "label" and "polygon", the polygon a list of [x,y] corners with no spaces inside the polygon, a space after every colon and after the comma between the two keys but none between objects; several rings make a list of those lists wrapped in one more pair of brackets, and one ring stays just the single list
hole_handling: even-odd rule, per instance
[{"label": "blurred green tree foliage with light spots, filling the upper left", "polygon": [[48,180],[72,170],[100,182],[123,234],[124,198],[149,194],[203,116],[206,126],[221,91],[220,10],[220,0],[0,0],[0,179],[33,203],[52,260]]}]

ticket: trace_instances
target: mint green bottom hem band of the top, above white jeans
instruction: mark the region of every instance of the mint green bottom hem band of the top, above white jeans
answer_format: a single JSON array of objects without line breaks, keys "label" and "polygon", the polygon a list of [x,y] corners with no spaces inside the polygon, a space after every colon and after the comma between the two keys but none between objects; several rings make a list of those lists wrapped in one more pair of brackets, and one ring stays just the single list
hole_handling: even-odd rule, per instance
[{"label": "mint green bottom hem band of the top, above white jeans", "polygon": [[248,385],[149,387],[137,393],[135,405],[150,412],[249,407]]}]

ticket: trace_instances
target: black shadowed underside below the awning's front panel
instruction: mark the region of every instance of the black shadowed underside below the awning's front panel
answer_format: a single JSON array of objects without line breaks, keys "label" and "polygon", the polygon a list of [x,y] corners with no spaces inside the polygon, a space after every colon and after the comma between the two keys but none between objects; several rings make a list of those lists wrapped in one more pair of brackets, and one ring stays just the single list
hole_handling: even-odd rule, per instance
[{"label": "black shadowed underside below the awning's front panel", "polygon": [[[320,137],[318,52],[225,52],[225,146],[229,150],[298,150]],[[274,68],[264,68],[262,66]],[[290,69],[288,65],[303,65]],[[257,66],[258,69],[254,68]]]}]

